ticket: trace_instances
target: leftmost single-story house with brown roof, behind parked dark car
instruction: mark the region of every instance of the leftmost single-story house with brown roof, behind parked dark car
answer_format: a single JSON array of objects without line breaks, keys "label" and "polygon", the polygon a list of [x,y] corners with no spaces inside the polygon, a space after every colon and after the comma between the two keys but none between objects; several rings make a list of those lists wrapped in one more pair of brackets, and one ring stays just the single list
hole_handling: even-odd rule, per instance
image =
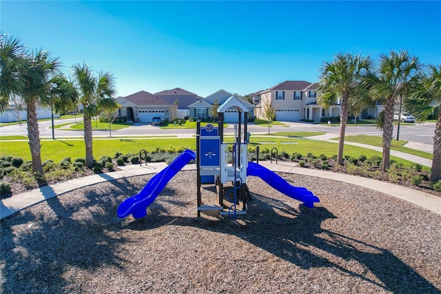
[{"label": "leftmost single-story house with brown roof, behind parked dark car", "polygon": [[149,92],[140,91],[126,97],[116,98],[121,105],[119,115],[127,117],[127,121],[150,122],[154,115],[162,115],[164,119],[176,119],[177,106]]}]

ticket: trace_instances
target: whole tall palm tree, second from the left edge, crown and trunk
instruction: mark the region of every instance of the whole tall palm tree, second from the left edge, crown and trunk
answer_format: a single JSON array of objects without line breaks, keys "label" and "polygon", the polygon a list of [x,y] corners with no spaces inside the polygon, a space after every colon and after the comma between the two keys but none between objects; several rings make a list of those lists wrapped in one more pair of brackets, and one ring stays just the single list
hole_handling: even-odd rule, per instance
[{"label": "whole tall palm tree, second from the left edge, crown and trunk", "polygon": [[37,104],[44,104],[50,90],[50,79],[57,75],[59,59],[50,57],[47,51],[35,50],[26,58],[25,85],[21,90],[21,97],[28,110],[28,138],[32,156],[32,171],[43,173],[41,166],[41,146],[39,124],[37,118]]}]

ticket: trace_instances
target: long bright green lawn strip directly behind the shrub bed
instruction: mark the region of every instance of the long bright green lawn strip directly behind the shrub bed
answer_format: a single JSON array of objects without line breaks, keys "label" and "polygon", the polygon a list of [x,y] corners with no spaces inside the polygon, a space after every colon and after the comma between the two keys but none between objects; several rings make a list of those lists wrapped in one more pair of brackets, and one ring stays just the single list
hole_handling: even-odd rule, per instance
[{"label": "long bright green lawn strip directly behind the shrub bed", "polygon": [[[225,137],[226,142],[232,142],[233,137]],[[248,148],[253,149],[256,146],[260,147],[260,153],[263,150],[271,150],[278,148],[278,153],[285,151],[289,155],[292,153],[300,153],[307,155],[312,153],[317,157],[319,155],[326,155],[332,157],[338,152],[338,143],[330,143],[326,141],[314,141],[308,139],[293,139],[293,138],[274,138],[266,136],[252,136],[250,138]],[[94,139],[93,152],[94,157],[107,155],[114,157],[116,152],[121,153],[135,153],[138,154],[141,149],[152,152],[156,147],[169,148],[183,146],[194,150],[196,148],[196,140],[194,138],[161,138],[161,139]],[[0,156],[10,155],[12,157],[21,157],[23,160],[30,160],[30,150],[27,141],[8,141],[8,144],[0,144]],[[357,146],[345,146],[345,155],[351,157],[359,157],[365,155],[368,158],[372,155],[379,155],[381,153],[367,148],[360,148]],[[59,162],[65,157],[72,159],[78,157],[85,157],[85,146],[83,139],[58,139],[54,141],[41,141],[41,159],[43,161],[52,159],[54,162]],[[403,164],[411,164],[409,161],[391,157],[392,159]]]}]

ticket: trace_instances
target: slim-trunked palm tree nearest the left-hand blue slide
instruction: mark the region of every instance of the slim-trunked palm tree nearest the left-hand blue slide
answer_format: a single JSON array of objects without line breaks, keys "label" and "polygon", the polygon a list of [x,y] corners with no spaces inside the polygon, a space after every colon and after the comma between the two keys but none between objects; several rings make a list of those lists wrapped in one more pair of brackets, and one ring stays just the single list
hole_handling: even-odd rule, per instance
[{"label": "slim-trunked palm tree nearest the left-hand blue slide", "polygon": [[85,166],[92,168],[92,116],[96,112],[99,100],[111,98],[114,95],[114,78],[110,72],[99,72],[94,76],[92,70],[85,63],[73,66],[73,77],[76,90],[79,94],[79,102],[84,108],[84,142],[85,142]]}]

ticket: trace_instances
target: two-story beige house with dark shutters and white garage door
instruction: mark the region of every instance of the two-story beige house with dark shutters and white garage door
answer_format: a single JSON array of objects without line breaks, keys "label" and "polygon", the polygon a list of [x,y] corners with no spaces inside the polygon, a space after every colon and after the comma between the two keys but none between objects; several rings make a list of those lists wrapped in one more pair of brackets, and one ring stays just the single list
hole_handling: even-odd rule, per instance
[{"label": "two-story beige house with dark shutters and white garage door", "polygon": [[284,81],[267,90],[253,93],[253,100],[260,101],[254,114],[259,119],[265,119],[263,106],[271,102],[278,121],[320,121],[322,117],[338,117],[341,108],[339,104],[329,108],[317,104],[317,88],[318,83],[309,81]]}]

